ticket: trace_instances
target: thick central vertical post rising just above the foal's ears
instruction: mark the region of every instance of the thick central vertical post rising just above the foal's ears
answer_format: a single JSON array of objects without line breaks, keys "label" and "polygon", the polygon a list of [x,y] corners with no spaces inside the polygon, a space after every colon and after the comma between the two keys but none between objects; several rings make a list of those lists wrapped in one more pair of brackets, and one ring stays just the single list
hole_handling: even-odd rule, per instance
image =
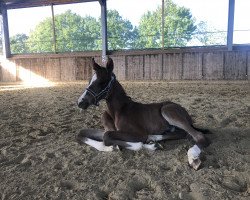
[{"label": "thick central vertical post rising just above the foal's ears", "polygon": [[102,25],[102,61],[106,62],[108,40],[107,40],[107,4],[106,0],[99,0],[101,5],[101,25]]}]

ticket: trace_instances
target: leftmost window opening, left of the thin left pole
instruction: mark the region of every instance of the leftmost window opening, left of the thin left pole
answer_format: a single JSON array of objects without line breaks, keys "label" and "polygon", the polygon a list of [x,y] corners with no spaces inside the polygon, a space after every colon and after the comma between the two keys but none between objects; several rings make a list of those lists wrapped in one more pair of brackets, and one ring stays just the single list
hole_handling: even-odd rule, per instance
[{"label": "leftmost window opening, left of the thin left pole", "polygon": [[53,52],[50,6],[8,10],[12,54]]}]

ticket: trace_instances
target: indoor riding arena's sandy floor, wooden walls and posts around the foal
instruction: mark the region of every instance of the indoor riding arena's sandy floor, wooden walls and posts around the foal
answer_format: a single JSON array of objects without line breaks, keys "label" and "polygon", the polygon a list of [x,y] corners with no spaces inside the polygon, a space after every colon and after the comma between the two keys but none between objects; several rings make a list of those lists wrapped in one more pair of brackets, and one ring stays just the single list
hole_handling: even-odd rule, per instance
[{"label": "indoor riding arena's sandy floor, wooden walls and posts around the foal", "polygon": [[[108,48],[110,24],[105,16],[109,14],[109,2],[111,5],[113,1],[1,2],[0,198],[249,199],[250,41],[248,38],[246,44],[233,42],[237,1],[224,1],[228,16],[225,44],[166,46],[166,36],[159,40],[164,48],[136,50]],[[163,8],[169,2],[177,5],[182,1],[158,0],[162,15],[167,15],[168,10]],[[61,41],[57,6],[84,7],[93,3],[101,16],[99,50],[56,51],[61,48],[56,43]],[[25,52],[16,52],[11,35],[11,16],[15,14],[12,12],[33,12],[41,6],[52,11],[50,17],[55,22],[50,31],[52,50],[41,48],[34,52],[27,47]],[[69,15],[74,11],[70,12]],[[167,27],[167,21],[160,22]],[[47,29],[42,30],[45,34]],[[34,34],[35,31],[26,38],[27,44]],[[105,66],[108,57],[114,61],[116,79],[133,101],[178,103],[191,115],[195,127],[210,131],[206,137],[211,144],[202,150],[198,170],[188,163],[187,152],[193,145],[188,139],[160,141],[161,148],[155,151],[117,148],[103,152],[78,143],[76,136],[81,129],[104,131],[102,114],[107,109],[106,101],[86,110],[81,110],[77,101],[94,74],[92,58]]]}]

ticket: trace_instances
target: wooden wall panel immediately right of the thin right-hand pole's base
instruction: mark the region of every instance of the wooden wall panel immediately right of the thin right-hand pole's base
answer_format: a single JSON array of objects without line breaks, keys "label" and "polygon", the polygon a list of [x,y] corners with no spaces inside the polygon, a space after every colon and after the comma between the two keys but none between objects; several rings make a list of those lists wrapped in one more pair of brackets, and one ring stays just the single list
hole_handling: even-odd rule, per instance
[{"label": "wooden wall panel immediately right of the thin right-hand pole's base", "polygon": [[163,79],[180,80],[182,77],[182,54],[163,55]]}]

